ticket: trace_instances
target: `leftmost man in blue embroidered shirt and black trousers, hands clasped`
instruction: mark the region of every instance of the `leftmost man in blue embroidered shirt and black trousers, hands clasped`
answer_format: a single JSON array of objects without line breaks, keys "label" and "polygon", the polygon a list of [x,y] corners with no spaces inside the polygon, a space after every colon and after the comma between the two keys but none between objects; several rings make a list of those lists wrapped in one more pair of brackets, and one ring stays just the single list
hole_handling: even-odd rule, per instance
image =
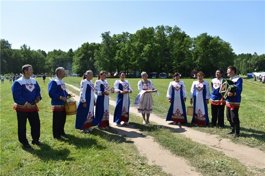
[{"label": "leftmost man in blue embroidered shirt and black trousers, hands clasped", "polygon": [[30,76],[33,75],[33,69],[30,65],[22,66],[23,76],[14,81],[12,85],[12,94],[15,101],[13,110],[17,111],[18,119],[18,138],[19,142],[27,149],[31,148],[28,143],[27,119],[30,125],[30,133],[33,145],[42,145],[40,137],[40,118],[38,113],[38,103],[42,98],[40,87],[37,81]]}]

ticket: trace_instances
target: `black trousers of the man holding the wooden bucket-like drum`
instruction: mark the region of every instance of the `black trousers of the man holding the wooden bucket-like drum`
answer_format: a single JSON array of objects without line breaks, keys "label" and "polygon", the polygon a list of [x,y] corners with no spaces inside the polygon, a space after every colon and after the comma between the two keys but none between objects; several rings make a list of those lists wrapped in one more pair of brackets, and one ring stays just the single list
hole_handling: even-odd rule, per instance
[{"label": "black trousers of the man holding the wooden bucket-like drum", "polygon": [[58,138],[64,135],[64,125],[66,121],[66,112],[53,111],[53,137]]}]

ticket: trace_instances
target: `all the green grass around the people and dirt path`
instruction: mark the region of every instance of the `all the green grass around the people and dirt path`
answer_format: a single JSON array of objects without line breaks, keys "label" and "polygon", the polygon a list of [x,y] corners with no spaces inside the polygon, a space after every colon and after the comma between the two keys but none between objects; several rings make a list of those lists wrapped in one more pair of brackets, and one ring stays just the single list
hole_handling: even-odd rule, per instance
[{"label": "all the green grass around the people and dirt path", "polygon": [[[79,87],[81,78],[67,77],[65,83]],[[113,87],[116,79],[107,79],[110,87]],[[137,82],[139,79],[128,79],[134,92],[130,94],[131,104],[138,94]],[[205,79],[209,83],[210,79]],[[2,176],[166,176],[159,166],[150,166],[146,158],[138,154],[137,149],[130,139],[117,135],[110,129],[103,132],[94,128],[92,134],[84,134],[75,129],[75,116],[68,116],[66,132],[70,135],[62,141],[53,139],[52,134],[52,110],[48,96],[48,82],[43,83],[37,78],[41,87],[43,100],[39,103],[41,120],[41,138],[44,145],[33,146],[33,149],[23,149],[17,139],[16,112],[12,110],[13,99],[11,84],[5,82],[0,85],[0,174]],[[93,82],[96,78],[93,78]],[[169,103],[166,96],[168,84],[171,79],[152,79],[160,96],[154,95],[154,113],[165,119]],[[193,79],[182,79],[187,88],[187,94]],[[79,91],[68,89],[79,94]],[[239,109],[241,123],[241,137],[233,138],[225,135],[229,126],[225,120],[225,129],[219,130],[211,127],[195,127],[186,123],[185,126],[193,129],[217,134],[222,138],[229,138],[235,143],[254,147],[265,152],[265,85],[260,82],[244,80],[242,103]],[[115,100],[115,94],[110,95]],[[186,103],[188,106],[188,102]],[[209,116],[210,114],[209,105]],[[110,107],[113,114],[114,107]],[[152,121],[152,115],[150,117]],[[191,117],[188,117],[188,122]],[[184,157],[188,164],[195,167],[203,176],[254,175],[245,166],[234,158],[225,156],[205,145],[198,144],[184,137],[182,134],[172,132],[159,126],[137,126],[141,119],[130,116],[130,122],[142,132],[151,135],[172,154]],[[29,124],[27,124],[27,138],[30,140]],[[264,170],[256,169],[256,172],[265,174]]]}]

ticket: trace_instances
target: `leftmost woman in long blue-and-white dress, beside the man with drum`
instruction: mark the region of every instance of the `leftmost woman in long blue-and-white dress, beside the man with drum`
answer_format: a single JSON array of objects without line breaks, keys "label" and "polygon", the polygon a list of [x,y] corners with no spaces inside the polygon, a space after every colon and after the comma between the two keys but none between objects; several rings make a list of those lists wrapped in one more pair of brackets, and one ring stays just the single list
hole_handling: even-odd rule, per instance
[{"label": "leftmost woman in long blue-and-white dress, beside the man with drum", "polygon": [[80,100],[77,107],[76,129],[85,133],[93,131],[90,127],[95,126],[92,124],[94,120],[94,106],[96,105],[94,95],[95,86],[91,81],[92,79],[93,72],[88,70],[85,72],[83,80],[80,83]]}]

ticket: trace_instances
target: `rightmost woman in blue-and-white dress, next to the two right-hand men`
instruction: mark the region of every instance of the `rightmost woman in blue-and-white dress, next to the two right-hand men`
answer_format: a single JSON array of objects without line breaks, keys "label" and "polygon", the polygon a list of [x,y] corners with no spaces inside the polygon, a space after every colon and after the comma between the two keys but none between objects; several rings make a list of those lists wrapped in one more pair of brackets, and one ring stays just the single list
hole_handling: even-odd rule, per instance
[{"label": "rightmost woman in blue-and-white dress, next to the two right-hand men", "polygon": [[207,126],[209,123],[208,107],[211,98],[209,83],[203,80],[204,73],[197,74],[198,81],[193,81],[190,89],[190,104],[193,103],[194,110],[191,123],[195,125]]}]

